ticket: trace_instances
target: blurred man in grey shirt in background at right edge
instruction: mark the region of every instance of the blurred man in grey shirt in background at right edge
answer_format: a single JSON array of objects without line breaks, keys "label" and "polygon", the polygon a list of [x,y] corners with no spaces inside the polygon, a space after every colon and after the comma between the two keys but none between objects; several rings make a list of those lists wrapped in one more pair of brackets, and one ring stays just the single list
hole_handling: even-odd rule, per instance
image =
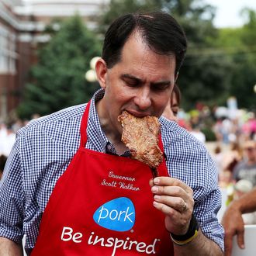
[{"label": "blurred man in grey shirt in background at right edge", "polygon": [[256,185],[256,142],[247,140],[244,142],[244,159],[234,168],[234,180],[247,179]]}]

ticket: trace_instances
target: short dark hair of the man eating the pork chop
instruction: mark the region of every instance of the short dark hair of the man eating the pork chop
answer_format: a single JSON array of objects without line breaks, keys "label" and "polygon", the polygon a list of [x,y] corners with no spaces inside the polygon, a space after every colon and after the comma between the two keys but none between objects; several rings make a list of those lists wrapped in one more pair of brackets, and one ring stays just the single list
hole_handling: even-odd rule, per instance
[{"label": "short dark hair of the man eating the pork chop", "polygon": [[182,27],[165,12],[126,14],[112,22],[102,48],[102,58],[108,68],[121,61],[123,46],[134,31],[140,33],[156,54],[174,54],[175,74],[178,73],[185,57],[187,41]]}]

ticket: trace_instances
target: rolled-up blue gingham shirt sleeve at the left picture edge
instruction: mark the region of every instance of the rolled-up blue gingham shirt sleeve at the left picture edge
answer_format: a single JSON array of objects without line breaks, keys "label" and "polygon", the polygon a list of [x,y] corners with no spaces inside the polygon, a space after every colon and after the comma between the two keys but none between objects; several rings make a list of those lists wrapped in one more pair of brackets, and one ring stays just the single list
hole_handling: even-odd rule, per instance
[{"label": "rolled-up blue gingham shirt sleeve at the left picture edge", "polygon": [[19,139],[17,137],[12,147],[0,183],[0,237],[8,238],[16,243],[22,241],[24,205]]}]

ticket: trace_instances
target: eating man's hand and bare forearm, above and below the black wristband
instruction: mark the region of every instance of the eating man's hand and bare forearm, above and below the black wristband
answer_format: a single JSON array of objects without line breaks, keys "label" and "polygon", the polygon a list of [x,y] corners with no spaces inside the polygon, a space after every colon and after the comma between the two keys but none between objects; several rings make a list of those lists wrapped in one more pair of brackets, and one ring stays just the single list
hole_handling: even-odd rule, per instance
[{"label": "eating man's hand and bare forearm, above and below the black wristband", "polygon": [[[175,235],[184,235],[194,209],[192,189],[177,178],[157,177],[150,181],[154,194],[153,205],[165,215],[166,229]],[[198,235],[185,246],[174,244],[175,255],[223,256],[220,247],[199,229]]]}]

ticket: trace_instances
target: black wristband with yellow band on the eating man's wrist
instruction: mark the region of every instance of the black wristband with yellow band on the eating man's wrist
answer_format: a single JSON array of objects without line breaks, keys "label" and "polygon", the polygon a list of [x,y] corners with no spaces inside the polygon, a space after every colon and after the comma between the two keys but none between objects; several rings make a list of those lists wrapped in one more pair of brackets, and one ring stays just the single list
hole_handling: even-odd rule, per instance
[{"label": "black wristband with yellow band on the eating man's wrist", "polygon": [[199,223],[192,214],[192,218],[189,223],[189,229],[184,235],[175,235],[170,233],[171,240],[178,245],[189,244],[195,237],[197,237],[199,231]]}]

